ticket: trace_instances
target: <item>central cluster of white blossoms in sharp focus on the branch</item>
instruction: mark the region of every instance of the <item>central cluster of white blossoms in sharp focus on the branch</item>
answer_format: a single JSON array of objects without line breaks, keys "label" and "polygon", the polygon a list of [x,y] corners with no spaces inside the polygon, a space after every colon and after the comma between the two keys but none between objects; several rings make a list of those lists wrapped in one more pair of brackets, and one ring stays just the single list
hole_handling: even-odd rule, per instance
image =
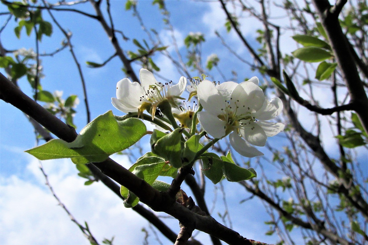
[{"label": "central cluster of white blossoms in sharp focus on the branch", "polygon": [[[138,112],[138,116],[147,110],[153,118],[166,100],[172,107],[180,109],[177,100],[184,99],[180,96],[187,83],[185,77],[172,85],[172,82],[157,82],[153,74],[145,69],[141,69],[139,75],[141,84],[131,82],[128,78],[117,83],[117,98],[112,98],[112,103],[118,110]],[[203,107],[204,110],[198,112],[198,121],[203,130],[217,139],[229,135],[231,146],[243,156],[263,155],[254,146],[264,146],[267,137],[278,134],[285,127],[282,123],[269,122],[281,113],[283,104],[279,98],[266,99],[256,77],[240,84],[216,84],[205,79],[190,82],[191,85],[187,87],[190,93],[188,100],[195,96]],[[173,114],[182,127],[189,128],[194,113],[184,111]]]}]

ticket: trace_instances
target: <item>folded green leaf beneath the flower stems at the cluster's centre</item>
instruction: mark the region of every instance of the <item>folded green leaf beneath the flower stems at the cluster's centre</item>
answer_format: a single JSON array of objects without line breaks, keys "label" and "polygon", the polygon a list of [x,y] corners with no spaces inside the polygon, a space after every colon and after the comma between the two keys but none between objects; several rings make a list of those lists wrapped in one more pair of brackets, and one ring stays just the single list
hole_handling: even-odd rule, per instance
[{"label": "folded green leaf beneath the flower stems at the cluster's centre", "polygon": [[151,144],[153,153],[168,160],[171,166],[176,168],[180,168],[183,165],[181,161],[181,133],[183,130],[182,128],[177,128],[158,139],[153,145]]}]

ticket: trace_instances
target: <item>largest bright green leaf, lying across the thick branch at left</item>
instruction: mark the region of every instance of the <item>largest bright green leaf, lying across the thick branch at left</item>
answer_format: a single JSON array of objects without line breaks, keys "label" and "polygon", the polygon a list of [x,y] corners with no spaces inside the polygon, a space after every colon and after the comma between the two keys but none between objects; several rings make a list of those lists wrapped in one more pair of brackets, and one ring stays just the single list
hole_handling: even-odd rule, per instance
[{"label": "largest bright green leaf, lying across the thick branch at left", "polygon": [[53,139],[26,152],[40,160],[71,158],[75,164],[101,162],[134,145],[145,134],[146,126],[141,120],[116,121],[112,111],[108,111],[87,124],[75,141]]}]

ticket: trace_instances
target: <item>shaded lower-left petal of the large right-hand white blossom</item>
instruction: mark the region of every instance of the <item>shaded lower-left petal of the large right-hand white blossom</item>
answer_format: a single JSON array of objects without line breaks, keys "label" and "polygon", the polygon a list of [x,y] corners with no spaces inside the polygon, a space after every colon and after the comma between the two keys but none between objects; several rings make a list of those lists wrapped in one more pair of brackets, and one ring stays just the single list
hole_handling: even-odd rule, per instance
[{"label": "shaded lower-left petal of the large right-hand white blossom", "polygon": [[221,121],[207,111],[200,111],[197,115],[199,123],[209,135],[219,139],[225,136],[225,121]]}]

